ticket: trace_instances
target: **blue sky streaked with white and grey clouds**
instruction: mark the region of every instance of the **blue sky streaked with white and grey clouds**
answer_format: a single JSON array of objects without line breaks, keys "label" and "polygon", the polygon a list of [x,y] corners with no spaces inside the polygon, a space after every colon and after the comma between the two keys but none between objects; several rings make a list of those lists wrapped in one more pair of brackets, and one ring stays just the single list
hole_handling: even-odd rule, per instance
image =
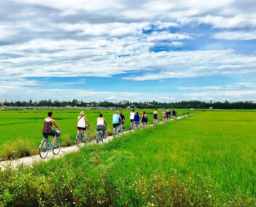
[{"label": "blue sky streaked with white and grey clouds", "polygon": [[256,101],[256,1],[0,1],[0,74],[0,101]]}]

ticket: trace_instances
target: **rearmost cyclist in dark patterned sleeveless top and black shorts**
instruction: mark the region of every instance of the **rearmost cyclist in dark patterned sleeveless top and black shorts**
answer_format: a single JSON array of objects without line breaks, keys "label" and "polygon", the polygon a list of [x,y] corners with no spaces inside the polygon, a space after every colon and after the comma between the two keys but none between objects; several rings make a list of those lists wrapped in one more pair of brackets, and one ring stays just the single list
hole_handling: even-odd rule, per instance
[{"label": "rearmost cyclist in dark patterned sleeveless top and black shorts", "polygon": [[51,127],[52,125],[55,125],[56,128],[58,128],[59,130],[61,130],[61,128],[59,128],[59,125],[57,125],[57,123],[55,122],[55,120],[52,119],[52,117],[53,112],[48,112],[48,118],[45,118],[44,120],[44,128],[42,128],[42,135],[45,138],[48,138],[48,136],[53,136],[53,148],[55,148],[56,131],[53,130]]}]

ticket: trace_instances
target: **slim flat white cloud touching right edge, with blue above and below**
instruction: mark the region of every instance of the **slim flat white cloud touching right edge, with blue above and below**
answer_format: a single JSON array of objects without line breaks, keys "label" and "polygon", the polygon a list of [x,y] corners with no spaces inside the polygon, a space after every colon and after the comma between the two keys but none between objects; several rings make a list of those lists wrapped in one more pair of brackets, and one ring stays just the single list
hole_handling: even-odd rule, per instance
[{"label": "slim flat white cloud touching right edge, with blue above and below", "polygon": [[256,31],[220,31],[213,36],[215,39],[249,40],[256,39]]}]

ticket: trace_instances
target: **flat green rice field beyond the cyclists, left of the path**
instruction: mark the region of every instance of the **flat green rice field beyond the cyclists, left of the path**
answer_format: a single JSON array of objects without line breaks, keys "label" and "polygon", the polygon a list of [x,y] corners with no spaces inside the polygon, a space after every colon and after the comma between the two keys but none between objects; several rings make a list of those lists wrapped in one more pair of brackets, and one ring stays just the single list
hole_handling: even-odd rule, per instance
[{"label": "flat green rice field beyond the cyclists, left of the path", "polygon": [[[122,110],[124,116],[127,118],[127,128],[129,127],[129,110]],[[95,133],[94,130],[97,126],[97,117],[99,117],[99,110],[85,110],[85,116],[88,118],[91,128],[90,132]],[[142,110],[138,111],[140,114]],[[148,113],[152,113],[152,110],[146,110]],[[191,112],[187,109],[178,109],[178,115],[184,112]],[[48,111],[46,110],[22,110],[22,111],[0,111],[0,144],[4,144],[6,141],[16,141],[17,138],[28,138],[33,144],[39,145],[42,140],[42,127],[43,120],[47,117]],[[80,110],[53,110],[53,119],[62,129],[61,135],[67,134],[72,141],[75,141],[77,133],[78,116]],[[112,116],[113,111],[102,111],[103,117],[108,122],[108,132],[113,130]],[[162,111],[159,111],[159,114]],[[149,122],[153,122],[153,114],[148,114]],[[162,116],[160,116],[160,120]],[[55,128],[53,126],[53,128]],[[0,146],[0,150],[1,150]]]}]

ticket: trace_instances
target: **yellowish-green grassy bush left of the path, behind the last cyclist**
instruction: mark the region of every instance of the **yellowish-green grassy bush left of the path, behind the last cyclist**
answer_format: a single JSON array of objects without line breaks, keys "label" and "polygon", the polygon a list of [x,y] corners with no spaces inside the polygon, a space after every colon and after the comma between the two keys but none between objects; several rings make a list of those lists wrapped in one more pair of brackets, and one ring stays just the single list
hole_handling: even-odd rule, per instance
[{"label": "yellowish-green grassy bush left of the path, behind the last cyclist", "polygon": [[6,160],[37,155],[37,147],[29,141],[28,138],[18,138],[16,141],[7,141],[3,144],[0,157]]}]

